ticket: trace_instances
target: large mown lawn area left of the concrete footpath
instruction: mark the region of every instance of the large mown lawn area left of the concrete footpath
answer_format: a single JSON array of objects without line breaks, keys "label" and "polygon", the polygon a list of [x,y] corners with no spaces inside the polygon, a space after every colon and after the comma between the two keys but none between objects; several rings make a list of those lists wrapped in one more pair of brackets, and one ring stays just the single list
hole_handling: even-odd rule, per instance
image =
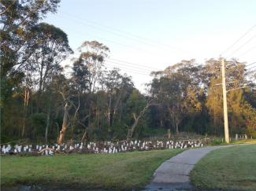
[{"label": "large mown lawn area left of the concrete footpath", "polygon": [[154,171],[185,149],[68,156],[0,157],[0,188],[143,189]]}]

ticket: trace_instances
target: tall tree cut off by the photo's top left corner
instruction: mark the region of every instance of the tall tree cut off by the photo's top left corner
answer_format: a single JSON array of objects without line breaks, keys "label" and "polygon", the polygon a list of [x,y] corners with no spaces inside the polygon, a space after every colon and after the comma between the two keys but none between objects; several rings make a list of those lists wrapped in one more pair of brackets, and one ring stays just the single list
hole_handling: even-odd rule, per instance
[{"label": "tall tree cut off by the photo's top left corner", "polygon": [[[0,1],[0,108],[6,111],[11,96],[28,70],[28,59],[37,49],[35,26],[47,13],[56,13],[60,0]],[[28,86],[23,89],[24,119],[28,108]],[[22,124],[20,123],[20,124]],[[24,125],[22,134],[24,134]]]}]

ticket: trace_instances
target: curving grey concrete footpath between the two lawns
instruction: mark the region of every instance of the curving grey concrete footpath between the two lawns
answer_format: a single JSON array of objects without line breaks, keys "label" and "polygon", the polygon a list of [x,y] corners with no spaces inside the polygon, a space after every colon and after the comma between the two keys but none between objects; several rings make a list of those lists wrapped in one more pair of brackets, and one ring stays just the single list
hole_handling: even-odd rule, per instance
[{"label": "curving grey concrete footpath between the two lawns", "polygon": [[166,160],[154,172],[153,178],[145,190],[196,190],[191,185],[190,171],[198,160],[202,159],[208,152],[233,145],[203,147],[189,149]]}]

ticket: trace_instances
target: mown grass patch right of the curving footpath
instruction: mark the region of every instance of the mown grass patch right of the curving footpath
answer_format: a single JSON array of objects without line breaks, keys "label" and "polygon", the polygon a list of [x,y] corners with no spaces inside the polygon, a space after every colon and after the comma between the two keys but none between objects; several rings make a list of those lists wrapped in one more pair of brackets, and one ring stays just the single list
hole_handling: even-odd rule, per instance
[{"label": "mown grass patch right of the curving footpath", "polygon": [[213,150],[191,171],[194,185],[203,189],[255,190],[256,145]]}]

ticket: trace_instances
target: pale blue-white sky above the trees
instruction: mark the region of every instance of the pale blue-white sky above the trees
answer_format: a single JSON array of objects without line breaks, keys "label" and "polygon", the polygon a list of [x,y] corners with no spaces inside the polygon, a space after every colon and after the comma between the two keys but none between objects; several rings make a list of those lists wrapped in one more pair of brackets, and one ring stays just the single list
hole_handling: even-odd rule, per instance
[{"label": "pale blue-white sky above the trees", "polygon": [[256,62],[255,7],[254,0],[61,0],[43,22],[65,31],[72,57],[84,41],[108,46],[113,60],[105,66],[121,68],[143,91],[150,72],[183,60]]}]

